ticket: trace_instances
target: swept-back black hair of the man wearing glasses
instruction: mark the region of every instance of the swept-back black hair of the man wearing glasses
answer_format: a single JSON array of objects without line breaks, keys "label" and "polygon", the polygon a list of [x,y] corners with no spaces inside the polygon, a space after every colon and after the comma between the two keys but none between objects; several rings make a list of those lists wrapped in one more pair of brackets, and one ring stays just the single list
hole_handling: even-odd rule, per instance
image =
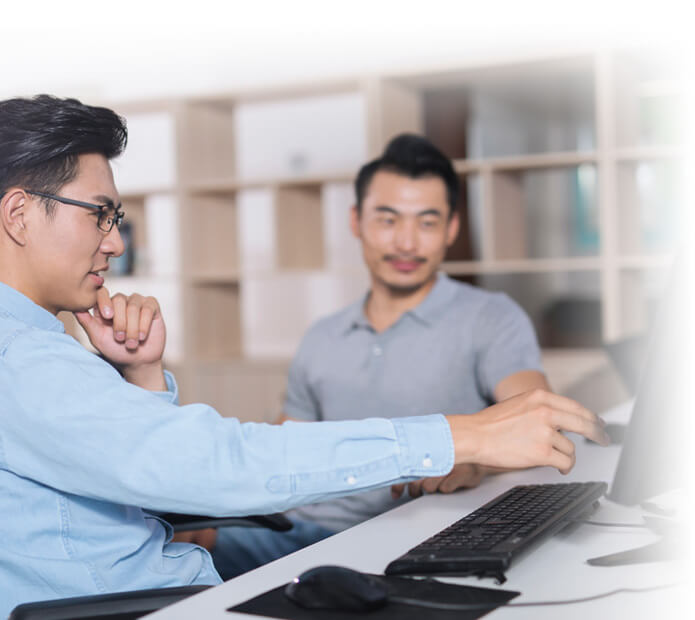
[{"label": "swept-back black hair of the man wearing glasses", "polygon": [[113,159],[127,141],[125,120],[108,108],[51,95],[0,101],[0,198],[15,186],[56,193],[75,178],[79,155]]}]

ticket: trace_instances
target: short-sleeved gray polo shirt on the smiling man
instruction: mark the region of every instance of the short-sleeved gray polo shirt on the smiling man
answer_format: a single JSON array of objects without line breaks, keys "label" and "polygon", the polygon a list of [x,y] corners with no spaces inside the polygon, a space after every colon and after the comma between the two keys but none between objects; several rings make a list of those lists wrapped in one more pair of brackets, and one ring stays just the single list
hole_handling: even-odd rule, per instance
[{"label": "short-sleeved gray polo shirt on the smiling man", "polygon": [[[366,296],[321,319],[290,366],[285,413],[300,420],[475,413],[497,384],[542,371],[533,327],[507,295],[439,274],[429,295],[387,330],[369,324]],[[340,531],[393,508],[378,489],[292,511]]]}]

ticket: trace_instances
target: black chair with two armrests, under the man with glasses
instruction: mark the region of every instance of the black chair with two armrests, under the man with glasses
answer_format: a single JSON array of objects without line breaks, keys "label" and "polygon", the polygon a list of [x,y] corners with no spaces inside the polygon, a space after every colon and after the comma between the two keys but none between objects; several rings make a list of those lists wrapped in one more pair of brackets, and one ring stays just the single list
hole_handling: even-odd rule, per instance
[{"label": "black chair with two armrests, under the man with glasses", "polygon": [[[159,516],[171,523],[174,532],[227,526],[265,527],[278,532],[287,532],[292,529],[292,521],[279,513],[248,517],[203,517],[175,513],[160,514]],[[77,618],[133,620],[167,605],[172,605],[188,596],[198,594],[209,587],[157,588],[24,603],[12,610],[8,620],[72,620]]]}]

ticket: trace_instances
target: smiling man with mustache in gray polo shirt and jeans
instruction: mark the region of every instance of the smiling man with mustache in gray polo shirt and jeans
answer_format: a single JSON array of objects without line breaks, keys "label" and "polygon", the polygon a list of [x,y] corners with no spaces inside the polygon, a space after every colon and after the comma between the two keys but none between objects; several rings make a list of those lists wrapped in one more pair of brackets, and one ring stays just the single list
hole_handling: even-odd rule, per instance
[{"label": "smiling man with mustache in gray polo shirt and jeans", "polygon": [[[351,227],[370,272],[365,296],[313,325],[292,362],[280,421],[475,413],[549,389],[536,337],[509,297],[438,273],[459,230],[458,178],[419,136],[394,138],[360,170]],[[466,464],[444,478],[295,509],[295,531],[222,530],[213,557],[223,576],[253,568],[384,512],[409,496],[475,486]]]}]

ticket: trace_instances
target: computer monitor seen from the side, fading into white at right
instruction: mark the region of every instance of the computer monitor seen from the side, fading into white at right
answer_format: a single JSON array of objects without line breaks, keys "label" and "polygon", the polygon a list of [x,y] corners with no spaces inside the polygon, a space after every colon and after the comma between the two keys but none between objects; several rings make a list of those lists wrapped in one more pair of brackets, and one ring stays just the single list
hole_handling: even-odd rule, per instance
[{"label": "computer monitor seen from the side, fading into white at right", "polygon": [[686,398],[692,374],[690,257],[681,254],[669,277],[651,330],[650,345],[609,499],[633,505],[676,488],[687,478],[693,449],[688,431],[695,416]]}]

